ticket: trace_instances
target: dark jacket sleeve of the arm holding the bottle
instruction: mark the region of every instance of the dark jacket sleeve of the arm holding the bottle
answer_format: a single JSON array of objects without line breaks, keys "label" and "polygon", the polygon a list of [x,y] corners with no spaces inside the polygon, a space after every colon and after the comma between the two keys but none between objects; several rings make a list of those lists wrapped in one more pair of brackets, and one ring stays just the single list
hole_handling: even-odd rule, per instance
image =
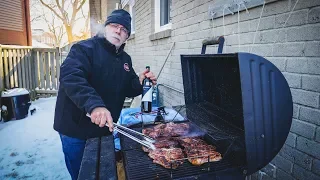
[{"label": "dark jacket sleeve of the arm holding the bottle", "polygon": [[142,93],[142,85],[140,84],[139,77],[137,76],[133,68],[130,70],[130,72],[131,72],[131,78],[130,78],[131,80],[129,83],[129,87],[126,90],[126,96],[136,97]]}]

